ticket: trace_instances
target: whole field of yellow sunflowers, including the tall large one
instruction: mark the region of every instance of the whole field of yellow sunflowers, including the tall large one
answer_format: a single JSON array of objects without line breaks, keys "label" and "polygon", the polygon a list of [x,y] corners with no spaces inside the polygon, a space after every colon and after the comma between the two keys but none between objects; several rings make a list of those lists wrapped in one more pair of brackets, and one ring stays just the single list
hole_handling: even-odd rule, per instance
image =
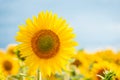
[{"label": "whole field of yellow sunflowers, including the tall large one", "polygon": [[120,80],[119,51],[76,50],[74,38],[57,14],[28,18],[15,36],[18,44],[0,50],[0,80]]}]

